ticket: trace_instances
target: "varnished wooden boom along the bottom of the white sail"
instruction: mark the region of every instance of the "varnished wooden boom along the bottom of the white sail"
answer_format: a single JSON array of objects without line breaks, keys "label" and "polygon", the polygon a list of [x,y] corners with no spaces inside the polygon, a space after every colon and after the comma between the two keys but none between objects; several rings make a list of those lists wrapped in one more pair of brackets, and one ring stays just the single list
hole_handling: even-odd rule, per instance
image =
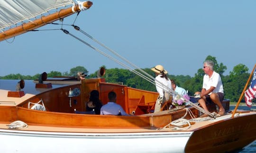
[{"label": "varnished wooden boom along the bottom of the white sail", "polygon": [[[92,5],[91,1],[85,1],[82,3],[82,6],[84,8],[90,8]],[[71,8],[66,8],[66,9],[61,9],[59,12],[56,12],[54,14],[48,15],[48,16],[43,16],[39,19],[36,19],[34,21],[28,22],[28,23],[24,23],[21,26],[17,26],[14,28],[11,28],[9,30],[6,30],[2,33],[0,33],[0,41],[9,39],[11,37],[17,36],[19,34],[24,34],[28,31],[34,30],[36,28],[39,28],[41,26],[45,26],[48,23],[52,23],[58,19],[62,19],[64,17],[70,16],[76,12],[81,11],[81,9],[79,8],[79,5],[76,4],[72,10]]]}]

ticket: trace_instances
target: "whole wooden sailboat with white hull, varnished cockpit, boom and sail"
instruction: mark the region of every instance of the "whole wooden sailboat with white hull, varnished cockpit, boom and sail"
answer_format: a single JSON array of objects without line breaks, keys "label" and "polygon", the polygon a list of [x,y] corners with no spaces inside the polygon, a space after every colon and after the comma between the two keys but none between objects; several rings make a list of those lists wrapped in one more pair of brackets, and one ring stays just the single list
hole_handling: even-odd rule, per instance
[{"label": "whole wooden sailboat with white hull, varnished cockpit, boom and sail", "polygon": [[[0,14],[0,40],[24,34],[92,6],[91,1],[77,2],[1,1],[3,11]],[[71,7],[49,16],[42,15],[64,6]],[[38,16],[40,17],[32,20]],[[28,22],[24,23],[25,21]],[[74,27],[80,30],[78,26]],[[68,31],[63,31],[69,34]],[[78,41],[100,51],[81,39]],[[99,44],[104,46],[100,42]],[[112,59],[109,55],[102,54]],[[154,78],[135,65],[131,64],[136,70],[118,60],[115,61],[154,84]],[[104,73],[105,69],[101,68],[97,78],[84,80],[72,76],[47,78],[47,74],[42,73],[38,80],[20,80],[17,85],[16,80],[0,80],[0,151],[231,152],[245,147],[256,139],[256,112],[229,111],[229,100],[222,102],[228,111],[220,117],[214,115],[215,105],[209,105],[210,112],[207,112],[198,104],[185,99],[183,100],[186,105],[183,108],[171,109],[172,102],[166,102],[165,107],[161,108],[162,111],[152,112],[158,93],[108,83],[102,77]],[[15,86],[17,90],[14,90]],[[92,90],[99,91],[103,104],[108,102],[108,93],[114,91],[117,93],[117,103],[131,115],[88,113],[84,102],[88,101]],[[179,95],[172,89],[170,93]],[[210,117],[200,118],[201,112],[207,113]]]}]

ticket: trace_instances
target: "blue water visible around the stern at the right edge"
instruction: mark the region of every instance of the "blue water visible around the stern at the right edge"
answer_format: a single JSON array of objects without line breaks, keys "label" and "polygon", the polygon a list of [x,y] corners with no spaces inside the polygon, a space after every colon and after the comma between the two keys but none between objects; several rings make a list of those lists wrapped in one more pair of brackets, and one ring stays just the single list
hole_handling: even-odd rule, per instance
[{"label": "blue water visible around the stern at the right edge", "polygon": [[[230,110],[234,110],[236,106],[230,106],[229,109]],[[249,108],[248,106],[238,106],[238,110],[250,110],[250,109],[255,109],[256,110],[256,106],[252,106],[251,108]],[[243,150],[239,151],[238,153],[256,153],[256,140],[249,144],[247,147],[243,148]]]}]

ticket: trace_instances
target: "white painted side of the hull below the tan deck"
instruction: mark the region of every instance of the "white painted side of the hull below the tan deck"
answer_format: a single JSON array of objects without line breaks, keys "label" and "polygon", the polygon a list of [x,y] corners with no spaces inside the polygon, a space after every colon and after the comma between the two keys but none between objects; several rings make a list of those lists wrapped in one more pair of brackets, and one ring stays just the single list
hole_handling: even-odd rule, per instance
[{"label": "white painted side of the hull below the tan deck", "polygon": [[0,129],[0,152],[183,153],[192,133],[62,133]]}]

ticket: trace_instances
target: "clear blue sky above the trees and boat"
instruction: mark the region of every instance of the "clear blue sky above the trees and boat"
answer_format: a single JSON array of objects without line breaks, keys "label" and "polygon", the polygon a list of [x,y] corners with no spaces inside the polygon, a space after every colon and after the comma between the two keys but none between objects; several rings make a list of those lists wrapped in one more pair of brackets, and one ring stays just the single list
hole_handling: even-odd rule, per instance
[{"label": "clear blue sky above the trees and boat", "polygon": [[[160,64],[171,75],[194,76],[208,55],[227,66],[224,75],[239,63],[250,73],[256,64],[256,0],[92,2],[75,25],[139,68]],[[65,18],[64,24],[72,24],[75,17]],[[72,28],[64,28],[109,53]],[[69,72],[76,66],[85,67],[89,74],[102,65],[123,68],[61,30],[28,32],[12,41],[0,42],[0,76]]]}]

